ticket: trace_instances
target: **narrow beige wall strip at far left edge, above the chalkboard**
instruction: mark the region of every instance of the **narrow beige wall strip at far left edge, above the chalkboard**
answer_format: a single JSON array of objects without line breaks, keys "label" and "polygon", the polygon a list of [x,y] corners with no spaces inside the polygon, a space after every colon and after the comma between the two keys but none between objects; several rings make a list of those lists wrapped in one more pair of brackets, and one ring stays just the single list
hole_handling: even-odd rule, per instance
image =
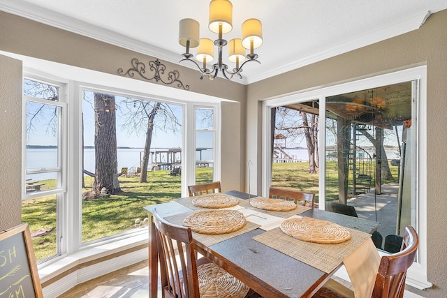
[{"label": "narrow beige wall strip at far left edge, above the chalkboard", "polygon": [[22,61],[0,55],[0,230],[22,223]]}]

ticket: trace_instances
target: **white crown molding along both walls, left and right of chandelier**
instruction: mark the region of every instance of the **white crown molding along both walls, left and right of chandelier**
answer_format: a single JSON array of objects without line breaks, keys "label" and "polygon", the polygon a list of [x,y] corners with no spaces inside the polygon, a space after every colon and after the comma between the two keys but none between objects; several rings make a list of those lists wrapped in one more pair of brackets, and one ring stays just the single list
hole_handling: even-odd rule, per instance
[{"label": "white crown molding along both walls, left and right of chandelier", "polygon": [[[19,15],[20,17],[25,17],[29,20],[47,24],[52,27],[70,31],[72,33],[77,33],[82,36],[87,36],[104,43],[116,45],[127,50],[132,50],[141,54],[147,54],[149,56],[159,58],[163,61],[168,61],[173,64],[197,70],[196,66],[193,64],[179,64],[179,59],[181,57],[179,57],[178,53],[163,50],[160,47],[154,47],[153,45],[149,45],[147,43],[142,43],[140,40],[135,40],[122,34],[96,27],[79,20],[75,20],[72,17],[54,13],[45,8],[35,6],[34,4],[25,3],[22,0],[8,2],[0,0],[0,10],[5,11],[6,13]],[[327,47],[325,48],[325,50],[322,50],[320,52],[309,54],[306,57],[291,61],[288,64],[271,68],[268,71],[258,72],[255,75],[251,75],[249,77],[244,76],[242,80],[233,80],[233,82],[239,84],[251,84],[254,82],[265,80],[268,77],[281,75],[282,73],[286,73],[296,68],[314,64],[318,61],[322,61],[330,57],[335,57],[339,54],[344,54],[346,52],[356,50],[360,47],[372,45],[373,43],[377,43],[381,40],[399,36],[403,33],[419,29],[429,16],[430,11],[414,15],[413,17],[401,20],[400,22],[395,22],[390,26],[374,29],[365,34],[362,34],[361,36],[356,36],[354,38],[346,40],[343,43],[339,43],[332,47]],[[197,73],[198,76],[200,76],[200,73],[198,71]]]}]

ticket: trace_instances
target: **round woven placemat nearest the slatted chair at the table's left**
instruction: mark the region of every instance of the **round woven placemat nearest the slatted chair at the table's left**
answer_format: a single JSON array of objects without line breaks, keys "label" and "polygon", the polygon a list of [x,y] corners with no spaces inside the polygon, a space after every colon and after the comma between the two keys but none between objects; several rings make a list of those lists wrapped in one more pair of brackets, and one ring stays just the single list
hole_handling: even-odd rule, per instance
[{"label": "round woven placemat nearest the slatted chair at the table's left", "polygon": [[235,210],[205,210],[197,211],[183,221],[186,227],[200,234],[227,234],[244,227],[245,217]]}]

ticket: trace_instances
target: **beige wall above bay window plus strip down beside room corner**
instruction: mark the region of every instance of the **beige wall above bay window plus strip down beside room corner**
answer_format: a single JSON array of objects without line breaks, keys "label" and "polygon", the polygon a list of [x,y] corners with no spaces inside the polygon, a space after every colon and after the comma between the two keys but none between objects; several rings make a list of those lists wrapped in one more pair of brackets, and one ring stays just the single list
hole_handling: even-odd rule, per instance
[{"label": "beige wall above bay window plus strip down beside room corner", "polygon": [[[118,75],[119,68],[124,71],[131,68],[133,58],[137,58],[145,64],[156,59],[3,12],[0,12],[0,28],[0,50],[112,75]],[[224,158],[226,162],[221,172],[221,179],[224,188],[240,190],[241,177],[244,174],[243,171],[240,172],[240,170],[244,170],[240,168],[243,163],[240,158],[244,156],[241,146],[244,145],[242,137],[245,134],[245,126],[244,123],[241,124],[240,119],[244,111],[247,87],[220,77],[214,81],[200,80],[200,73],[196,70],[166,61],[161,61],[161,63],[166,65],[166,75],[169,71],[178,70],[179,80],[189,86],[189,91],[234,101],[233,103],[226,102],[223,105],[221,124],[226,133],[223,134],[222,155],[232,156],[232,158]],[[149,68],[146,69],[146,75],[153,76],[153,73],[149,72]],[[42,71],[45,72],[45,70]],[[3,72],[2,69],[0,72],[5,77],[8,76],[8,73]],[[133,78],[147,82],[148,92],[150,92],[152,84],[177,89],[177,84],[166,85],[155,80],[147,81],[138,74],[135,74]],[[17,104],[20,104],[20,101]],[[227,112],[228,114],[226,114]],[[13,117],[12,114],[10,116]],[[20,111],[17,110],[17,115],[14,117],[20,119]],[[20,130],[20,126],[17,128]],[[17,137],[20,137],[20,133]],[[18,144],[18,148],[20,151],[20,144]],[[15,171],[20,171],[20,166],[17,166]],[[1,175],[2,173],[0,173],[0,177]],[[16,197],[20,198],[20,195],[17,193]]]}]

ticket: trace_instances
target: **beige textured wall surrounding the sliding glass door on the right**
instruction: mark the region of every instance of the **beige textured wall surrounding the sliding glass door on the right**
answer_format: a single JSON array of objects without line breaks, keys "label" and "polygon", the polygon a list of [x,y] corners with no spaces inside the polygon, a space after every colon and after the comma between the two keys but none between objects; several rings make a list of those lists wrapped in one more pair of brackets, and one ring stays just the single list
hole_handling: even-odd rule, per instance
[{"label": "beige textured wall surrounding the sliding glass door on the right", "polygon": [[427,65],[427,276],[434,288],[414,292],[447,297],[447,10],[431,15],[416,31],[250,84],[247,119],[253,120],[247,129],[258,133],[249,135],[247,158],[261,161],[260,147],[252,146],[262,138],[260,101],[420,64]]}]

